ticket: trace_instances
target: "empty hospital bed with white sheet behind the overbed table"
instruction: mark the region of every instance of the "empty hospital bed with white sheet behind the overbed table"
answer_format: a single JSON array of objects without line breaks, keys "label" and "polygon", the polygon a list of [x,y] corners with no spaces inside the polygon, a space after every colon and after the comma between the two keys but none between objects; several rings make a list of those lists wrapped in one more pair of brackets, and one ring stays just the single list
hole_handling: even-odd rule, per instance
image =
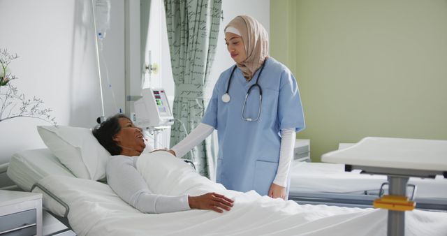
[{"label": "empty hospital bed with white sheet behind the overbed table", "polygon": [[[288,199],[301,204],[370,207],[379,196],[386,175],[365,175],[361,170],[345,171],[344,164],[293,161]],[[410,177],[416,186],[416,208],[447,211],[447,179]],[[409,186],[409,195],[413,187]],[[380,194],[386,194],[388,187]]]}]

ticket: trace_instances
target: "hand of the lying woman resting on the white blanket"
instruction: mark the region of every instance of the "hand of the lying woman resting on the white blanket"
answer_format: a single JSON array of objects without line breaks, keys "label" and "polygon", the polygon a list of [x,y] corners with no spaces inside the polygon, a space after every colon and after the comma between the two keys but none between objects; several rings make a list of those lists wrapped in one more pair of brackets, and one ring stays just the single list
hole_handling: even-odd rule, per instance
[{"label": "hand of the lying woman resting on the white blanket", "polygon": [[211,209],[222,213],[223,209],[229,211],[233,207],[234,200],[218,193],[205,193],[195,197],[188,196],[188,202],[191,209]]}]

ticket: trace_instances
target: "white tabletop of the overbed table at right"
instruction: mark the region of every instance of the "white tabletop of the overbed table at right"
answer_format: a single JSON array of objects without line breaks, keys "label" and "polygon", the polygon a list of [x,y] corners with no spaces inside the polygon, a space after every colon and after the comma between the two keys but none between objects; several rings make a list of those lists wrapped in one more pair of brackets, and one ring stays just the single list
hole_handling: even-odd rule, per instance
[{"label": "white tabletop of the overbed table at right", "polygon": [[447,171],[447,140],[367,137],[346,149],[323,154],[321,161],[378,168]]}]

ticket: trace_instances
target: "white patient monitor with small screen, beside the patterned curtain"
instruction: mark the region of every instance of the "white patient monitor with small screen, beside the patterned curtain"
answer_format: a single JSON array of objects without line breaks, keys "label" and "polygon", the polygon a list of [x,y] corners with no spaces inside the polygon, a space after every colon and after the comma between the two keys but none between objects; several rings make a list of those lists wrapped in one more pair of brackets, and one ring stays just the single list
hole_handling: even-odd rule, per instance
[{"label": "white patient monitor with small screen, beside the patterned curtain", "polygon": [[174,124],[165,89],[147,88],[135,101],[135,125],[141,128],[168,128]]}]

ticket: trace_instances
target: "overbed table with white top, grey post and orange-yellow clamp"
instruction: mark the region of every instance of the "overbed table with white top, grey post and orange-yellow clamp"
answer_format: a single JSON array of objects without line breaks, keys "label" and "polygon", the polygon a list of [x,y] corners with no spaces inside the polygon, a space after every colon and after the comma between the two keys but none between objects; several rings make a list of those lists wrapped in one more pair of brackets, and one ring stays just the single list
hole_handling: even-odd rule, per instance
[{"label": "overbed table with white top, grey post and orange-yellow clamp", "polygon": [[388,209],[388,235],[403,236],[405,211],[413,209],[411,200],[403,200],[408,179],[436,175],[447,178],[447,140],[367,137],[352,147],[323,154],[321,161],[344,163],[345,171],[387,175],[390,196],[375,204]]}]

